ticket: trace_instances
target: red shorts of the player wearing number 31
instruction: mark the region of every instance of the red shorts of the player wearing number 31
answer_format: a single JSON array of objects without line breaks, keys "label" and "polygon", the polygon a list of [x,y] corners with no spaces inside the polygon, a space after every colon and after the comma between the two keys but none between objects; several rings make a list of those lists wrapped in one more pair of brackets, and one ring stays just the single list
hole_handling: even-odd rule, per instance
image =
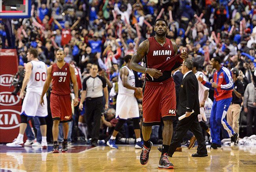
[{"label": "red shorts of the player wearing number 31", "polygon": [[52,120],[60,120],[60,122],[69,122],[72,120],[70,94],[57,95],[51,93],[50,107]]}]

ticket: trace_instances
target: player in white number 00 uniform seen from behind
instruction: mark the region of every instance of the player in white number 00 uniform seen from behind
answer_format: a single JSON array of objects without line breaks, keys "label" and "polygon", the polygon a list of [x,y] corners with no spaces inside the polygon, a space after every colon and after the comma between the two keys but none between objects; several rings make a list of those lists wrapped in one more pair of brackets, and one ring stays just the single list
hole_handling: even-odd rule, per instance
[{"label": "player in white number 00 uniform seen from behind", "polygon": [[[44,96],[45,104],[40,105],[41,92],[46,80],[47,66],[44,62],[37,59],[38,53],[35,49],[29,49],[27,53],[28,62],[25,66],[26,72],[20,91],[20,98],[24,99],[22,110],[20,113],[20,128],[17,139],[12,143],[7,143],[6,146],[21,147],[23,146],[23,136],[27,127],[27,117],[39,117],[40,130],[42,134],[41,148],[47,148],[46,141],[46,121],[45,117],[48,115],[46,95]],[[26,96],[24,98],[24,90],[26,89]]]}]

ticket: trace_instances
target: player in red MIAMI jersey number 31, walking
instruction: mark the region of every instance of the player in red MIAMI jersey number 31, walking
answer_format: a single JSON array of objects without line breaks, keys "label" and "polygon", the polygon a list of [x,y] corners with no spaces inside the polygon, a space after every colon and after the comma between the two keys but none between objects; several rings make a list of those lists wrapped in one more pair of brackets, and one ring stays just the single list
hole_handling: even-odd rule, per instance
[{"label": "player in red MIAMI jersey number 31, walking", "polygon": [[69,124],[67,122],[72,120],[72,109],[70,100],[70,78],[73,83],[75,93],[74,106],[78,105],[78,85],[76,81],[75,70],[72,65],[65,63],[65,54],[63,50],[56,52],[57,63],[51,65],[47,70],[47,79],[41,95],[41,105],[44,104],[43,96],[49,88],[52,81],[52,92],[50,96],[50,108],[52,112],[52,136],[54,140],[54,147],[52,152],[59,153],[58,133],[59,122],[63,123],[63,142],[61,151],[67,151],[67,137],[69,132]]}]

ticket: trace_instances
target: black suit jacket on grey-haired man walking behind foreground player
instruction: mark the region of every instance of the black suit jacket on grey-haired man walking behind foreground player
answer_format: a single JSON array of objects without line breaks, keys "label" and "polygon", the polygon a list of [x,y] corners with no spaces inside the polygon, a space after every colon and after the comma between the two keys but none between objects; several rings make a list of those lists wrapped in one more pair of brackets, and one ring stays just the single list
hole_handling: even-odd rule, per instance
[{"label": "black suit jacket on grey-haired man walking behind foreground player", "polygon": [[182,80],[179,91],[178,115],[184,115],[186,112],[192,112],[193,115],[200,114],[198,99],[198,81],[193,72],[189,72]]}]

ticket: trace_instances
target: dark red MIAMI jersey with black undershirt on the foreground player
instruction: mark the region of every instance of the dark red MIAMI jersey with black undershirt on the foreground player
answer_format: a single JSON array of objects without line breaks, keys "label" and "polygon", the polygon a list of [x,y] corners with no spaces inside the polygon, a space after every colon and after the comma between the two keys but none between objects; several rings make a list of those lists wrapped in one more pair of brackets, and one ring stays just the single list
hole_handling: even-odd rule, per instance
[{"label": "dark red MIAMI jersey with black undershirt on the foreground player", "polygon": [[[163,46],[161,46],[156,41],[155,37],[148,38],[148,41],[149,41],[148,53],[143,58],[145,67],[150,68],[152,66],[160,65],[161,63],[167,61],[168,59],[170,59],[175,55],[173,44],[170,39],[166,38],[165,44]],[[153,79],[151,76],[149,76],[149,74],[146,74],[146,81],[161,82],[171,78],[171,71],[178,68],[181,64],[179,61],[180,60],[177,59],[174,67],[169,71],[164,71],[163,75],[160,76],[159,78]]]}]

